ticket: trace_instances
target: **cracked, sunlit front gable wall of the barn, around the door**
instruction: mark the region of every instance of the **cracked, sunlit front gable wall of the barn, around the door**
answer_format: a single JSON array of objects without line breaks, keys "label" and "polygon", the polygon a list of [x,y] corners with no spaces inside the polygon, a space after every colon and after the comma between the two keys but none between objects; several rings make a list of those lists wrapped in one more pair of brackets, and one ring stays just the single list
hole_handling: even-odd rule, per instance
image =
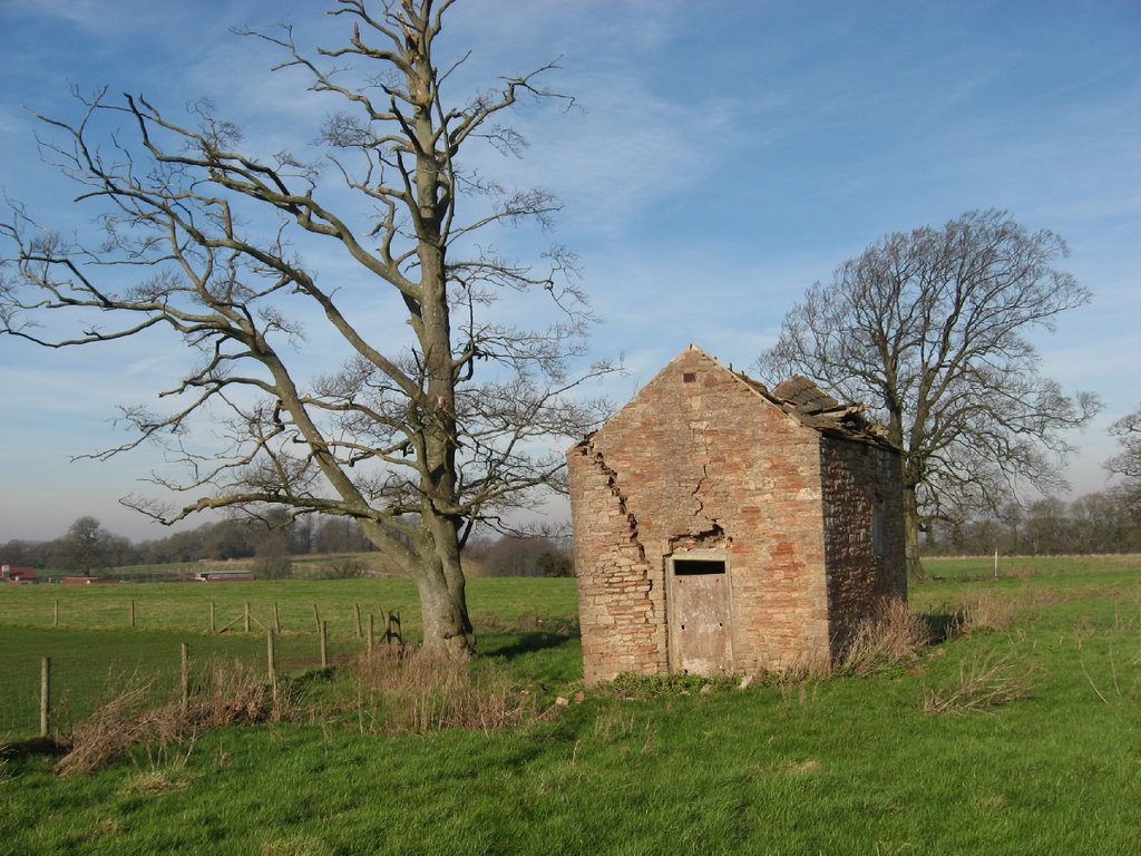
[{"label": "cracked, sunlit front gable wall of the barn, around the door", "polygon": [[670,668],[671,554],[728,560],[728,671],[827,657],[819,431],[703,352],[568,453],[588,683]]}]

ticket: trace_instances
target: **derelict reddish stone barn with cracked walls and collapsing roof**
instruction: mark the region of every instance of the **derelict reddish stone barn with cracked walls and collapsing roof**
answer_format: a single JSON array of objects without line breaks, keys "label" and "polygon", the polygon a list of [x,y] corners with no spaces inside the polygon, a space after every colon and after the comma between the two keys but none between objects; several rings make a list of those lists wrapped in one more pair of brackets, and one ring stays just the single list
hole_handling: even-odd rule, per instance
[{"label": "derelict reddish stone barn with cracked walls and collapsing roof", "polygon": [[803,378],[690,346],[567,460],[589,684],[834,657],[906,597],[899,454]]}]

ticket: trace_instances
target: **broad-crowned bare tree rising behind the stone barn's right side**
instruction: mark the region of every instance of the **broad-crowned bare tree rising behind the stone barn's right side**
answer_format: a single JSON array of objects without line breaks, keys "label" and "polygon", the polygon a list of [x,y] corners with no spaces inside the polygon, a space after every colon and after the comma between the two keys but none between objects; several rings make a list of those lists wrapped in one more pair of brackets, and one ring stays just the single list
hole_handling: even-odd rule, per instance
[{"label": "broad-crowned bare tree rising behind the stone barn's right side", "polygon": [[904,454],[913,579],[925,519],[1063,483],[1066,431],[1099,405],[1043,377],[1026,336],[1089,302],[1055,267],[1066,256],[1058,235],[1004,211],[888,235],[809,289],[759,360],[766,379],[804,373],[877,410]]}]

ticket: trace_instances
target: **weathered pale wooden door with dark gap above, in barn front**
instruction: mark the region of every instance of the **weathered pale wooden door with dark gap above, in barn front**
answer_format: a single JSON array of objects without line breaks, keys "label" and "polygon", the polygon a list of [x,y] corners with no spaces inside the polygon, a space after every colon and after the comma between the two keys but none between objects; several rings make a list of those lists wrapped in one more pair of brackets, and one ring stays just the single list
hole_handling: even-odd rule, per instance
[{"label": "weathered pale wooden door with dark gap above, in barn front", "polygon": [[729,568],[723,557],[675,556],[670,571],[670,668],[714,677],[733,671]]}]

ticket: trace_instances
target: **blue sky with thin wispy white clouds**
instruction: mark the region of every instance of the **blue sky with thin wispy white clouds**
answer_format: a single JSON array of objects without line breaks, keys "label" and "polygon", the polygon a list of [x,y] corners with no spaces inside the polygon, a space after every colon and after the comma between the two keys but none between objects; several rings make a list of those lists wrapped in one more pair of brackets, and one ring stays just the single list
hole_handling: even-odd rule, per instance
[{"label": "blue sky with thin wispy white clouds", "polygon": [[[330,43],[340,25],[317,8],[0,0],[0,187],[62,231],[82,225],[25,111],[74,118],[71,84],[171,111],[209,97],[262,151],[304,151],[327,105],[228,29],[289,19]],[[618,403],[689,342],[747,368],[807,286],[887,233],[1003,208],[1062,235],[1094,302],[1035,341],[1045,373],[1106,404],[1074,436],[1078,495],[1106,486],[1106,428],[1141,405],[1138,45],[1135,0],[468,0],[445,47],[471,48],[468,79],[487,83],[563,57],[551,83],[581,108],[523,105],[529,151],[487,168],[563,199],[556,236],[606,322],[593,353],[630,369],[608,390]],[[504,239],[524,255],[541,248],[529,241]],[[180,356],[153,339],[46,352],[0,338],[0,542],[82,514],[167,534],[116,502],[145,490],[156,450],[70,457],[122,442],[114,405],[147,401]]]}]

